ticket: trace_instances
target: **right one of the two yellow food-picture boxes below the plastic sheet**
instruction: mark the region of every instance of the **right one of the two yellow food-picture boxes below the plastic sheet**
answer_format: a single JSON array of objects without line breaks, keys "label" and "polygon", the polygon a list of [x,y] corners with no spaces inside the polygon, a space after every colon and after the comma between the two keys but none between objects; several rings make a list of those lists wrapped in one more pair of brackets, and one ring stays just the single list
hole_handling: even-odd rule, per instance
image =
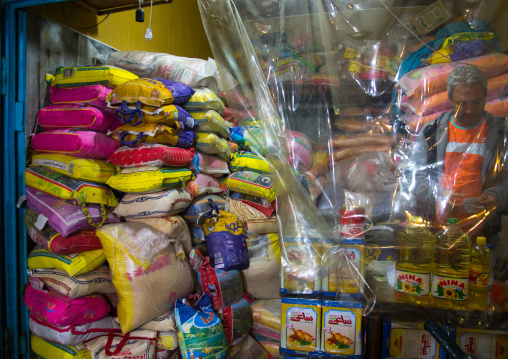
[{"label": "right one of the two yellow food-picture boxes below the plastic sheet", "polygon": [[362,355],[362,318],[360,302],[323,301],[321,348],[328,354]]}]

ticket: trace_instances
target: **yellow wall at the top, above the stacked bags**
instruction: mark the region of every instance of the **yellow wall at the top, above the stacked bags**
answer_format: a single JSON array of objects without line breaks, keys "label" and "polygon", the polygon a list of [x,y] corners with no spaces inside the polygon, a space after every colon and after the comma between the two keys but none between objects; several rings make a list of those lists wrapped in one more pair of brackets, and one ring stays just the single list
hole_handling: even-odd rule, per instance
[{"label": "yellow wall at the top, above the stacked bags", "polygon": [[[62,6],[67,18],[63,15]],[[197,0],[173,0],[171,4],[154,6],[151,43],[145,42],[150,7],[144,8],[144,23],[136,22],[135,10],[130,10],[113,13],[98,27],[88,30],[76,29],[71,24],[89,27],[103,20],[105,16],[96,16],[72,2],[34,6],[30,10],[119,50],[163,52],[202,59],[213,57]]]}]

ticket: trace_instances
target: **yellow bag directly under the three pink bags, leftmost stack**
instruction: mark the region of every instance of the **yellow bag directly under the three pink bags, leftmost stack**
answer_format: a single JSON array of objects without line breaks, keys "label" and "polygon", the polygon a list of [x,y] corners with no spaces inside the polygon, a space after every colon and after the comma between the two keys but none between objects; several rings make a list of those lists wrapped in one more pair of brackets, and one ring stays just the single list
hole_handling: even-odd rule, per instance
[{"label": "yellow bag directly under the three pink bags, leftmost stack", "polygon": [[97,183],[106,183],[109,177],[120,170],[106,161],[58,153],[37,153],[32,156],[32,165],[49,167],[74,179]]}]

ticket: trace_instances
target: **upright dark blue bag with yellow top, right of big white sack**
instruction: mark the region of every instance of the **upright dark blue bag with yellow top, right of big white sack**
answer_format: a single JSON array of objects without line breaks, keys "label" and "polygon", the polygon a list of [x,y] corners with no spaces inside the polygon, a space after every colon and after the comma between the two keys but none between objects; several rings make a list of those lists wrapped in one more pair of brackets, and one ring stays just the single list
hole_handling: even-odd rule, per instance
[{"label": "upright dark blue bag with yellow top, right of big white sack", "polygon": [[235,215],[219,211],[213,200],[209,203],[212,209],[203,231],[213,267],[222,270],[249,268],[249,250],[242,224]]}]

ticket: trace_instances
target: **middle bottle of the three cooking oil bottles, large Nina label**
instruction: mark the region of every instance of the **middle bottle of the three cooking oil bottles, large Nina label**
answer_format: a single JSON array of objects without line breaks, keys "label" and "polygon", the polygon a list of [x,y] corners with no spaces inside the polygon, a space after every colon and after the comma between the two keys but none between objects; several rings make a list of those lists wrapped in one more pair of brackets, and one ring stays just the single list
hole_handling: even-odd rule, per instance
[{"label": "middle bottle of the three cooking oil bottles, large Nina label", "polygon": [[430,286],[431,304],[447,309],[465,309],[469,285],[471,238],[457,218],[436,236]]}]

